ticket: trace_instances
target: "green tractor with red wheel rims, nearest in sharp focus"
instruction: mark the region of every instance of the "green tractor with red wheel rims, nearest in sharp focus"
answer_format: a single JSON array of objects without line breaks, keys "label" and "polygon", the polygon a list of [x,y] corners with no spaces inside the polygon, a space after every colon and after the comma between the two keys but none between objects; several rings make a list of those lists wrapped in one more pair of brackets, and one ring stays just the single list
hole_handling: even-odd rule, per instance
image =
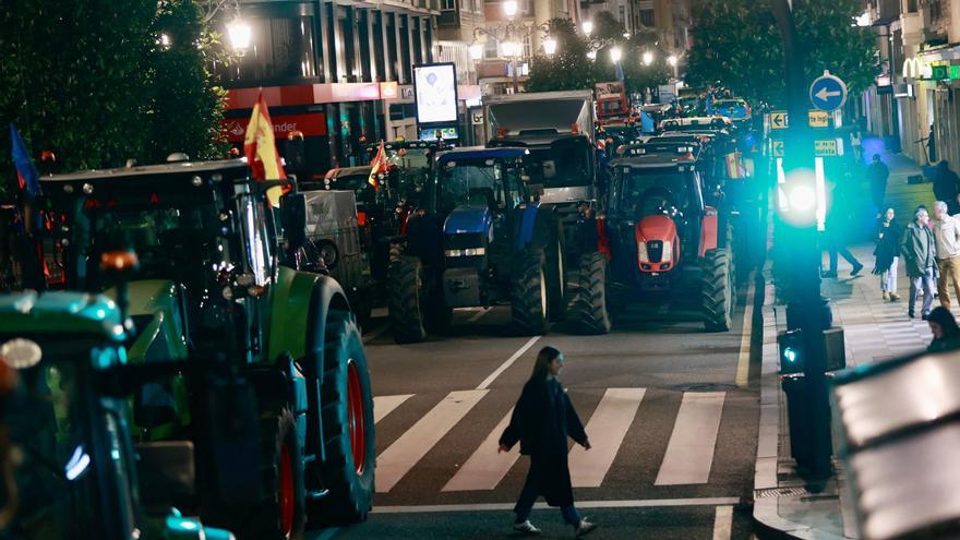
[{"label": "green tractor with red wheel rims, nearest in sharp focus", "polygon": [[117,249],[137,253],[128,285],[132,363],[211,359],[233,365],[254,388],[254,504],[214,496],[235,465],[197,423],[206,407],[197,370],[144,385],[132,400],[137,441],[189,441],[208,467],[197,467],[197,496],[180,505],[241,539],[298,538],[307,521],[363,520],[373,492],[373,406],[356,317],[335,280],[291,268],[307,241],[305,203],[290,193],[272,208],[266,191],[279,183],[251,180],[242,160],[41,182],[60,224],[52,232],[68,288],[116,297],[95,263]]}]

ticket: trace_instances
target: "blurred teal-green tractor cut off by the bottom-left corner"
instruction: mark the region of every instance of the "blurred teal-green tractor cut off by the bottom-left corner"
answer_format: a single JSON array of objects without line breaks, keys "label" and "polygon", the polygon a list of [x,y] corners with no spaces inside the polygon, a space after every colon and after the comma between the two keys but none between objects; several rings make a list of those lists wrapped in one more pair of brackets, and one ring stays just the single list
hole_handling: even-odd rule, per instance
[{"label": "blurred teal-green tractor cut off by the bottom-left corner", "polygon": [[[0,361],[19,381],[4,384],[10,394],[3,400],[0,537],[233,538],[172,509],[175,497],[189,495],[194,489],[191,443],[144,442],[134,446],[128,412],[130,388],[160,373],[127,363],[123,343],[129,334],[122,321],[117,304],[103,296],[0,296]],[[211,397],[225,396],[227,388],[238,395],[250,389],[232,384],[236,379],[229,375],[217,374],[206,381],[214,383],[207,386]],[[202,411],[197,421],[221,428],[212,440],[229,447],[237,463],[255,465],[254,432],[230,421],[242,419],[244,412],[252,417],[252,407],[230,411],[211,408]],[[243,476],[241,471],[237,477]]]}]

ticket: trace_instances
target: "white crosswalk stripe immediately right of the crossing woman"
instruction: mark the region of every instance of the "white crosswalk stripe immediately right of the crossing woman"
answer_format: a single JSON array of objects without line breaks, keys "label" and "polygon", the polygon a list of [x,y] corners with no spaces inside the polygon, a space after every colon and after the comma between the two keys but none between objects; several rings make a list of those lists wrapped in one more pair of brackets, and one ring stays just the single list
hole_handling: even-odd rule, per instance
[{"label": "white crosswalk stripe immediately right of the crossing woman", "polygon": [[607,388],[603,399],[587,423],[592,448],[576,445],[571,451],[569,470],[574,488],[599,488],[644,399],[646,388]]}]

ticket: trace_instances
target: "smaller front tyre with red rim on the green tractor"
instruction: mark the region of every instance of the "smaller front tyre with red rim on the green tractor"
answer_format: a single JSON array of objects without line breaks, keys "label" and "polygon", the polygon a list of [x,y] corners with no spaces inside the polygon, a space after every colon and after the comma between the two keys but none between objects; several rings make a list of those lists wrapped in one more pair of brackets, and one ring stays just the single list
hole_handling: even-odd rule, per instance
[{"label": "smaller front tyre with red rim on the green tractor", "polygon": [[303,538],[304,512],[303,461],[293,413],[284,406],[260,418],[261,502],[229,515],[223,521],[240,540],[286,540]]}]

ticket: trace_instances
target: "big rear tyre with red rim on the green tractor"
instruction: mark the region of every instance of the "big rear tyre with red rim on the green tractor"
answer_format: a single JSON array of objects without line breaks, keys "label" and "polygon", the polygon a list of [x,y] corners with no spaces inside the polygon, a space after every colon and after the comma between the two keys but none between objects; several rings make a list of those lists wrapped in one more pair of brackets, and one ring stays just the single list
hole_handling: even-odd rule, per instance
[{"label": "big rear tyre with red rim on the green tractor", "polygon": [[376,449],[367,353],[351,314],[331,312],[323,362],[320,415],[326,458],[319,470],[329,493],[307,502],[307,517],[324,526],[360,523],[372,506]]}]

